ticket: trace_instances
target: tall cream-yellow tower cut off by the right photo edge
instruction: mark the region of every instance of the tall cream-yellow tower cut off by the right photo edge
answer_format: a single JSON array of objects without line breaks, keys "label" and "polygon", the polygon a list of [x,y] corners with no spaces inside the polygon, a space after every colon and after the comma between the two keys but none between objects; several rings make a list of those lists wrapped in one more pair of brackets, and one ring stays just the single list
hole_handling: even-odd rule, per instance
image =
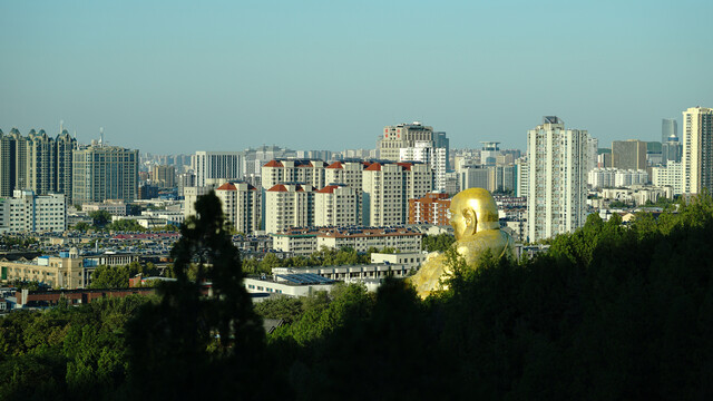
[{"label": "tall cream-yellow tower cut off by the right photo edge", "polygon": [[683,111],[683,192],[713,189],[713,109],[691,107]]}]

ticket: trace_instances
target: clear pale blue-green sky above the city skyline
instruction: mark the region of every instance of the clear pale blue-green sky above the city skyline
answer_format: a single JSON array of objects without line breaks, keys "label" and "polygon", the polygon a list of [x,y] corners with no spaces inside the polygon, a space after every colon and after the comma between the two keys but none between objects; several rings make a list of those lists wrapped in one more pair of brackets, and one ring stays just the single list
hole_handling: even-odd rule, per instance
[{"label": "clear pale blue-green sky above the city skyline", "polygon": [[422,121],[525,150],[713,107],[713,1],[1,1],[0,129],[141,153],[374,148]]}]

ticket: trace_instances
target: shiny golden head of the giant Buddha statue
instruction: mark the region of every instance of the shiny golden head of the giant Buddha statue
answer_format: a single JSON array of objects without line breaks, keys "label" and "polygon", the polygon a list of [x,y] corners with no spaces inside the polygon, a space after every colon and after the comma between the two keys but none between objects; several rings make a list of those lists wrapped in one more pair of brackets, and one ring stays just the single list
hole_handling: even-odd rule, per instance
[{"label": "shiny golden head of the giant Buddha statue", "polygon": [[450,225],[457,241],[478,232],[499,229],[498,206],[492,195],[482,188],[469,188],[453,196],[450,203]]}]

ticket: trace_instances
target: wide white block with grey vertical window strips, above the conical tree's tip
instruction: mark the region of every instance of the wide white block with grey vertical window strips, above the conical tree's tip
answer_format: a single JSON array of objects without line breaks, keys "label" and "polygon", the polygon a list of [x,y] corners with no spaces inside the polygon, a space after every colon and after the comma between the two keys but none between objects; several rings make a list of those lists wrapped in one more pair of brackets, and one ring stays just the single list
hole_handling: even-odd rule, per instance
[{"label": "wide white block with grey vertical window strips, above the conical tree's tip", "polygon": [[240,151],[196,151],[191,160],[196,185],[242,178]]}]

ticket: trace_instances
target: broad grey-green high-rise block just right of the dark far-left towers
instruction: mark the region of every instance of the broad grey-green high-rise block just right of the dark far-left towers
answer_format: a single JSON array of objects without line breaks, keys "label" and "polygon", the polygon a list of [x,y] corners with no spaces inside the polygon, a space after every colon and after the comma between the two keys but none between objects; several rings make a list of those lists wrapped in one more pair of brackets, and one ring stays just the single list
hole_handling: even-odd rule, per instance
[{"label": "broad grey-green high-rise block just right of the dark far-left towers", "polygon": [[72,153],[72,203],[138,197],[138,150],[92,144]]}]

